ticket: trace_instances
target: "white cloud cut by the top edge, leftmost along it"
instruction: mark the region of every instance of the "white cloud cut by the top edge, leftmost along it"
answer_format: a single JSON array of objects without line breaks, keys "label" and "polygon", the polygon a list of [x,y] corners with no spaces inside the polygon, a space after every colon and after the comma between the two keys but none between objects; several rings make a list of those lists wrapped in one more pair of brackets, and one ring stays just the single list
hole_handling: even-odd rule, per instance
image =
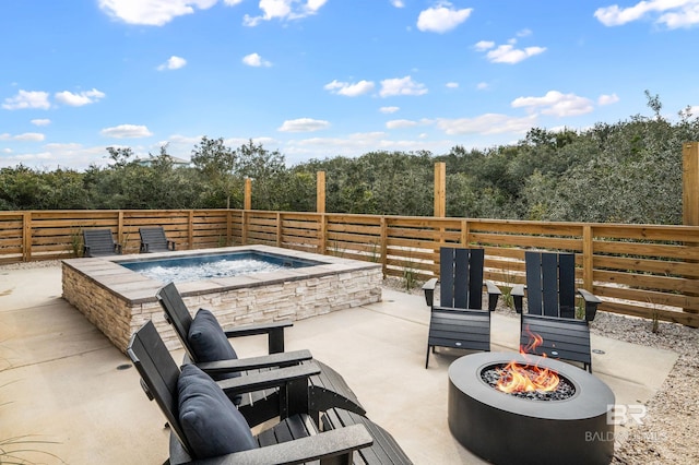
[{"label": "white cloud cut by the top edge, leftmost along it", "polygon": [[[99,0],[99,8],[128,24],[162,26],[177,16],[206,10],[218,0]],[[226,2],[230,4],[230,2]],[[235,3],[233,3],[235,4]]]}]

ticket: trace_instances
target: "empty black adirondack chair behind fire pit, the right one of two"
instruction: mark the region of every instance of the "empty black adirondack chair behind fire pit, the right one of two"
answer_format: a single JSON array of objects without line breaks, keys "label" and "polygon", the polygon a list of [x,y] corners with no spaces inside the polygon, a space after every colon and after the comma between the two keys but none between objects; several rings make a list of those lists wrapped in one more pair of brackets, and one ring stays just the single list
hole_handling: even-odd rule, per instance
[{"label": "empty black adirondack chair behind fire pit, the right one of two", "polygon": [[[526,286],[512,289],[514,308],[521,314],[521,348],[525,353],[581,362],[592,372],[589,322],[594,320],[601,300],[585,289],[576,289],[574,254],[528,251],[524,260]],[[584,302],[582,319],[576,318],[576,295]],[[536,336],[542,338],[538,345],[533,344]]]}]

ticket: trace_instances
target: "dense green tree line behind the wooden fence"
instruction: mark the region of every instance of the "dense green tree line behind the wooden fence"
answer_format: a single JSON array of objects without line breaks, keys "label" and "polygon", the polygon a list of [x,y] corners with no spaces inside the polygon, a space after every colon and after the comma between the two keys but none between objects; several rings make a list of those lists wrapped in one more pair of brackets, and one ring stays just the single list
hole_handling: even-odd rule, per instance
[{"label": "dense green tree line behind the wooden fence", "polygon": [[84,171],[0,169],[0,210],[241,208],[251,178],[252,208],[312,212],[316,174],[325,171],[328,212],[431,216],[435,164],[445,162],[448,216],[682,224],[682,146],[699,141],[699,119],[686,109],[671,122],[647,96],[651,117],[534,128],[514,144],[440,155],[370,152],[287,167],[262,144],[204,136],[191,165],[175,167],[167,146],[145,165],[131,148],[107,147],[110,163]]}]

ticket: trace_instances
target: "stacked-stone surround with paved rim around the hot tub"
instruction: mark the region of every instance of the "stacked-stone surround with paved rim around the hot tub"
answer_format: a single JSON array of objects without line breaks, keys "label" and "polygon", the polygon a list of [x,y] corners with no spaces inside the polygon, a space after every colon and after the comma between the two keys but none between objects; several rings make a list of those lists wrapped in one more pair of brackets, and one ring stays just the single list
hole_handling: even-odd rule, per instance
[{"label": "stacked-stone surround with paved rim around the hot tub", "polygon": [[[259,251],[321,264],[177,284],[190,310],[212,310],[224,327],[303,320],[381,300],[381,265],[376,263],[269,246],[161,252],[150,253],[147,258],[240,251]],[[153,320],[169,348],[179,347],[177,336],[165,322],[163,309],[155,298],[163,283],[119,264],[134,259],[145,258],[134,254],[63,260],[63,298],[122,351],[131,335],[149,320]]]}]

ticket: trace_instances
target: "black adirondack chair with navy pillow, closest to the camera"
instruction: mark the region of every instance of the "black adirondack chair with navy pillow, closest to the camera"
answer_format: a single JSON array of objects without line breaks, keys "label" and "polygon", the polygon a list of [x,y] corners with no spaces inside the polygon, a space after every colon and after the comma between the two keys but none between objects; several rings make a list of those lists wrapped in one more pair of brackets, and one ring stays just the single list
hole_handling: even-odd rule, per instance
[{"label": "black adirondack chair with navy pillow, closest to the camera", "polygon": [[[410,464],[391,434],[359,415],[331,409],[319,432],[304,412],[304,390],[313,363],[269,370],[215,382],[194,365],[180,369],[151,321],[137,331],[127,354],[141,375],[141,385],[155,400],[170,426],[171,465],[206,464]],[[288,392],[287,413],[280,422],[253,437],[229,398],[260,386]],[[197,462],[203,463],[203,462]]]}]

